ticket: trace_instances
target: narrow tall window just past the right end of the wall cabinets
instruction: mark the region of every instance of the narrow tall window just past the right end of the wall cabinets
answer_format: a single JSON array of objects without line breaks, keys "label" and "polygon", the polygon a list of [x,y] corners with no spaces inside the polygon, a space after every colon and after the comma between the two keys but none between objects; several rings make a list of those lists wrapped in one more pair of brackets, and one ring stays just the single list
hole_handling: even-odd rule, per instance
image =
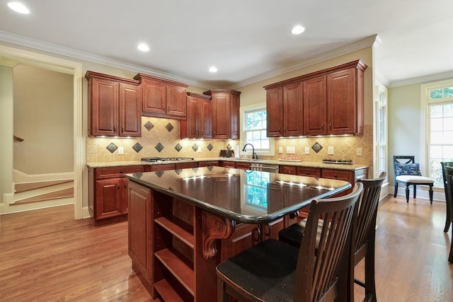
[{"label": "narrow tall window just past the right end of the wall cabinets", "polygon": [[377,84],[377,97],[374,99],[374,177],[377,178],[387,168],[387,88]]}]

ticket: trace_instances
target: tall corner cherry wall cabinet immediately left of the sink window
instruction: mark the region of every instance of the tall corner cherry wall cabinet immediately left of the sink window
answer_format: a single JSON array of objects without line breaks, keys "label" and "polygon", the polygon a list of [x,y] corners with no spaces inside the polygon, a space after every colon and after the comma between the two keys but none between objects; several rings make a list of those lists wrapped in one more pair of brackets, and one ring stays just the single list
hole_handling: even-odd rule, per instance
[{"label": "tall corner cherry wall cabinet immediately left of the sink window", "polygon": [[239,139],[240,91],[216,89],[203,94],[212,96],[212,138]]}]

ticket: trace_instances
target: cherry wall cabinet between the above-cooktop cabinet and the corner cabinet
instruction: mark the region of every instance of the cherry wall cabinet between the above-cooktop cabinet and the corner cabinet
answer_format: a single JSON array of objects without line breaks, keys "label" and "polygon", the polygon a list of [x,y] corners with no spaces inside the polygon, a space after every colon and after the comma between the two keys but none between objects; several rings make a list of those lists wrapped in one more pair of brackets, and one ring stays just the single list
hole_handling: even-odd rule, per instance
[{"label": "cherry wall cabinet between the above-cooktop cabinet and the corner cabinet", "polygon": [[212,139],[210,95],[187,93],[187,120],[180,121],[181,139]]}]

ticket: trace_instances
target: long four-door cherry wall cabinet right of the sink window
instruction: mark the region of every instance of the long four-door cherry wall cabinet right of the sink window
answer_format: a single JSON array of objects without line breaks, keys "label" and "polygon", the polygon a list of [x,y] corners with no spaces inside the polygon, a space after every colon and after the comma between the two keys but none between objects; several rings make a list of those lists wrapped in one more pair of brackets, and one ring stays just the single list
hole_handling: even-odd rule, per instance
[{"label": "long four-door cherry wall cabinet right of the sink window", "polygon": [[[268,119],[271,120],[268,122],[268,126],[271,126],[268,128],[268,136],[363,134],[365,69],[367,65],[357,60],[264,86],[268,95]],[[302,85],[302,88],[300,93],[296,93],[299,85]],[[281,96],[277,95],[279,88]],[[285,88],[290,88],[287,96]],[[298,97],[298,105],[303,109],[295,105]],[[278,103],[277,98],[282,98],[282,108],[285,108],[285,100],[290,104],[287,105],[289,109],[286,109],[292,117],[290,124],[285,124],[285,109],[281,111],[281,117],[275,117],[278,115],[275,113],[278,107],[275,104]],[[293,114],[295,116],[292,116]],[[300,125],[298,117],[303,117],[302,134],[297,134],[294,127]],[[283,125],[280,135],[275,132],[279,123]],[[285,134],[285,126],[291,132]]]}]

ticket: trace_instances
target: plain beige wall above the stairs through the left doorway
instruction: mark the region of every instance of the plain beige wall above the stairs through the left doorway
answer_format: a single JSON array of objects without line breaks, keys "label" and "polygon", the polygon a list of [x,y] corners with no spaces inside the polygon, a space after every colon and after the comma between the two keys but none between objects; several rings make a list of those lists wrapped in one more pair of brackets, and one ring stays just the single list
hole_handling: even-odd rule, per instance
[{"label": "plain beige wall above the stairs through the left doorway", "polygon": [[74,170],[73,76],[34,66],[13,69],[13,168],[28,175]]}]

